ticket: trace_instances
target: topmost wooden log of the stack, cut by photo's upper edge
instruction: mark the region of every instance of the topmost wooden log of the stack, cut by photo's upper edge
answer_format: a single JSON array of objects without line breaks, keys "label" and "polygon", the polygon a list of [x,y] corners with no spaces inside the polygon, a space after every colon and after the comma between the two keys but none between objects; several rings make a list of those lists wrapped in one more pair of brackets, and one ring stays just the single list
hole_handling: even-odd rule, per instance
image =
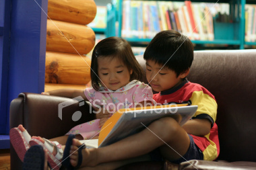
[{"label": "topmost wooden log of the stack, cut by photo's upper edge", "polygon": [[97,7],[94,0],[49,0],[51,19],[87,25],[94,19]]}]

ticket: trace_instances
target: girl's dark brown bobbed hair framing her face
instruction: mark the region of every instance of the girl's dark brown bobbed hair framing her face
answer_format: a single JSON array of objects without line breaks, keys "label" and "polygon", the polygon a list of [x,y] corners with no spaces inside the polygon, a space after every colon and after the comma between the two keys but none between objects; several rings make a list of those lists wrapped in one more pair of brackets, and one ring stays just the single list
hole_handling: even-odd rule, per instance
[{"label": "girl's dark brown bobbed hair framing her face", "polygon": [[131,46],[127,40],[118,37],[105,38],[98,42],[92,52],[91,62],[91,79],[92,87],[98,91],[100,88],[100,79],[98,77],[98,60],[97,58],[110,57],[119,58],[129,71],[133,70],[130,81],[139,80],[143,77],[143,69],[137,62]]}]

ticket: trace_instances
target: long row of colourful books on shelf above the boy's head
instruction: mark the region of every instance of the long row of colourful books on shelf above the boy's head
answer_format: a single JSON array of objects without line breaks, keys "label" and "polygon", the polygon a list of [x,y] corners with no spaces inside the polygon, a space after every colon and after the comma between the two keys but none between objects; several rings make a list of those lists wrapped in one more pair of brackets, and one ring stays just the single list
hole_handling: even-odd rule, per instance
[{"label": "long row of colourful books on shelf above the boy's head", "polygon": [[153,38],[162,30],[177,30],[191,40],[214,40],[213,17],[226,8],[227,3],[123,1],[121,36]]}]

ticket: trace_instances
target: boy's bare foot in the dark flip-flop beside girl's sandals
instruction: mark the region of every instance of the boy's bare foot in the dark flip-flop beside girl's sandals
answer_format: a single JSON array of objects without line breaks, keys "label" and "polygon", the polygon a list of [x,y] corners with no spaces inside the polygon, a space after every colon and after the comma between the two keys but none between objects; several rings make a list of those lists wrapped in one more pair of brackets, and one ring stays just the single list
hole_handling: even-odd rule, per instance
[{"label": "boy's bare foot in the dark flip-flop beside girl's sandals", "polygon": [[[79,142],[77,139],[73,139],[73,144],[70,149],[70,163],[73,167],[77,166],[79,155],[78,155],[78,148],[81,146],[82,143]],[[97,152],[96,148],[84,148],[82,149],[82,165],[80,167],[94,167],[97,163]]]}]

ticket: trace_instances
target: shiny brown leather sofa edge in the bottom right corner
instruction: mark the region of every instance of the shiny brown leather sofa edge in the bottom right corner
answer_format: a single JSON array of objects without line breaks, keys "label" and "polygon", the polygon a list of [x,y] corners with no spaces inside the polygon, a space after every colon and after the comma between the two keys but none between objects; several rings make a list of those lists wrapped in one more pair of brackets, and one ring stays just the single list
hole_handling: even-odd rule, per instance
[{"label": "shiny brown leather sofa edge in the bottom right corner", "polygon": [[237,161],[237,162],[226,162],[226,161],[199,161],[199,160],[191,160],[185,161],[180,164],[179,170],[223,170],[223,169],[239,169],[239,170],[248,170],[255,169],[256,163],[249,161]]}]

